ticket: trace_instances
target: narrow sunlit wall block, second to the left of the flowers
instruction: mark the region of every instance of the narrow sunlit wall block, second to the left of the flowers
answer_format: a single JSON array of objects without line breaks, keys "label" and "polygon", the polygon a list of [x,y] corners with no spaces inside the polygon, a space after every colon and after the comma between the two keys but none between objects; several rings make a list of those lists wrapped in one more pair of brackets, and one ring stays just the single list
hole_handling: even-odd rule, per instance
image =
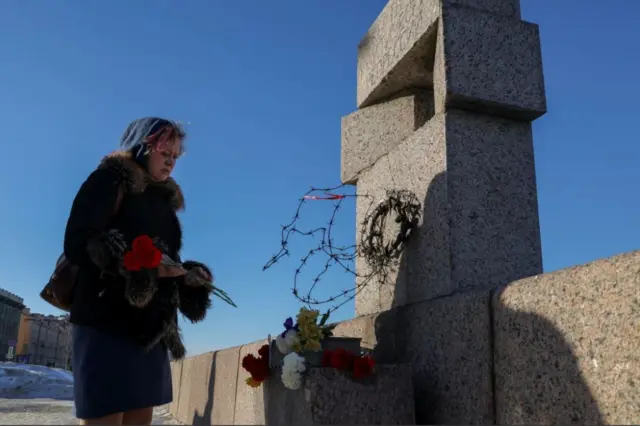
[{"label": "narrow sunlit wall block, second to the left of the flowers", "polygon": [[[238,386],[240,346],[216,352],[210,423],[233,424]],[[243,385],[244,383],[240,383]],[[205,411],[206,414],[206,411]]]}]

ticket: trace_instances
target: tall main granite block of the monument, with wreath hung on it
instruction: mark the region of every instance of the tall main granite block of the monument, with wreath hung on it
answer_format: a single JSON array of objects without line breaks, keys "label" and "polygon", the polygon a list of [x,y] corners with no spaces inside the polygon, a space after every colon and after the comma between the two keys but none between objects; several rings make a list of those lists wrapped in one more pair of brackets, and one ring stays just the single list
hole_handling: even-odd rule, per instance
[{"label": "tall main granite block of the monument, with wreath hung on it", "polygon": [[358,242],[372,202],[393,188],[418,196],[422,218],[385,279],[371,279],[356,259],[358,316],[542,272],[530,123],[435,115],[361,175],[358,192],[368,196],[356,203]]}]

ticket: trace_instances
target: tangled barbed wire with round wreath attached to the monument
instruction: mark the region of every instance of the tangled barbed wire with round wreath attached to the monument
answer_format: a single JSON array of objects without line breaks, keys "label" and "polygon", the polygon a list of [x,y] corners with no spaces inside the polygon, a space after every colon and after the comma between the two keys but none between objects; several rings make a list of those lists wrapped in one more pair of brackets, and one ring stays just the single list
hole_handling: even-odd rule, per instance
[{"label": "tangled barbed wire with round wreath attached to the monument", "polygon": [[[400,255],[407,245],[408,239],[413,234],[414,229],[420,221],[420,212],[422,205],[418,201],[418,197],[408,190],[390,190],[386,193],[386,198],[372,209],[373,197],[367,194],[357,193],[340,193],[337,191],[345,188],[347,185],[339,185],[333,188],[311,188],[301,199],[296,209],[293,219],[287,225],[282,226],[280,251],[276,253],[263,267],[263,271],[271,268],[278,263],[283,257],[290,256],[289,239],[293,235],[299,236],[320,236],[320,242],[316,247],[311,248],[307,254],[300,260],[300,265],[296,268],[293,277],[292,293],[299,301],[312,307],[314,305],[323,305],[334,303],[339,299],[342,301],[334,304],[328,309],[331,313],[340,308],[345,303],[353,300],[367,285],[374,279],[380,283],[387,281],[389,274],[400,260]],[[350,188],[352,188],[350,186]],[[314,195],[322,193],[322,195]],[[371,201],[367,208],[367,214],[361,224],[360,244],[348,246],[338,246],[334,244],[332,236],[332,228],[336,221],[338,211],[341,209],[345,199],[350,198],[367,198]],[[335,204],[333,211],[326,226],[320,226],[308,230],[300,230],[297,223],[300,219],[302,207],[308,200],[333,200]],[[386,232],[388,219],[394,215],[394,222],[399,226],[399,231],[395,233],[392,239],[387,239],[389,235]],[[324,267],[313,278],[312,284],[306,295],[301,295],[299,290],[299,276],[302,269],[309,263],[311,257],[323,254],[326,256]],[[368,265],[366,273],[358,273],[355,270],[355,260],[361,257]],[[313,297],[312,293],[322,276],[325,275],[332,266],[338,266],[345,272],[354,275],[356,284],[354,287],[342,290],[338,294],[330,296],[326,299],[319,300]]]}]

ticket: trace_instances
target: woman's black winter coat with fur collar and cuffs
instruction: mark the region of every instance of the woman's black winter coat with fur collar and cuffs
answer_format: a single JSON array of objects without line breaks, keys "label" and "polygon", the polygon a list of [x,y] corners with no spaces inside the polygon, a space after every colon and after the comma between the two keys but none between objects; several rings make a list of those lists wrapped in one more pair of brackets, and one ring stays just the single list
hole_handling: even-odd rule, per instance
[{"label": "woman's black winter coat with fur collar and cuffs", "polygon": [[[187,275],[157,278],[122,267],[124,253],[141,235],[180,262],[182,230],[176,213],[183,208],[182,191],[173,179],[152,181],[128,153],[102,160],[78,191],[65,231],[65,255],[79,266],[72,323],[126,335],[146,349],[165,344],[174,359],[185,356],[177,312],[191,322],[204,319],[211,306],[211,270],[183,261]],[[196,273],[196,267],[205,274]]]}]

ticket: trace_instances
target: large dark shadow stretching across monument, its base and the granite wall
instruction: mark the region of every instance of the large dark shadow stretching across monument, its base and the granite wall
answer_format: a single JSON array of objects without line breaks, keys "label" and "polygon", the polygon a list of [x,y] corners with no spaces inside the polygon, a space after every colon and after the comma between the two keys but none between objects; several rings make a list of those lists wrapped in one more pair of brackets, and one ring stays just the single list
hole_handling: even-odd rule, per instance
[{"label": "large dark shadow stretching across monument, its base and the granite wall", "polygon": [[[499,298],[487,289],[421,297],[456,267],[442,256],[450,228],[444,173],[431,182],[423,206],[421,229],[398,268],[392,308],[374,324],[376,360],[413,368],[416,423],[602,424],[570,344],[549,320],[496,306]],[[511,333],[500,336],[512,344],[496,344],[495,312],[508,318]]]}]

